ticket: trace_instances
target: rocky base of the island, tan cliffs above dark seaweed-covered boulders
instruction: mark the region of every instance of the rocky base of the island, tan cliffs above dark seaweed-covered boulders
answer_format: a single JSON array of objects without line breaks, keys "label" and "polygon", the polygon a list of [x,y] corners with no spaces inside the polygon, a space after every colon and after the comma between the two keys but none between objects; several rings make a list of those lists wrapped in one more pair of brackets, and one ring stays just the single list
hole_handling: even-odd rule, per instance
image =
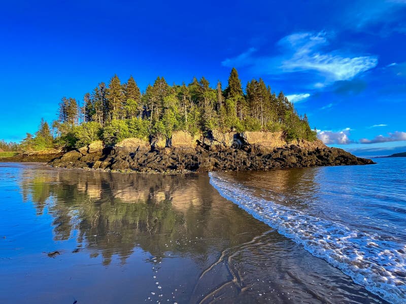
[{"label": "rocky base of the island, tan cliffs above dark seaweed-covered boulders", "polygon": [[[139,172],[267,170],[310,166],[365,165],[357,158],[321,141],[294,140],[270,132],[218,133],[191,136],[176,132],[164,147],[152,141],[125,139],[114,147],[70,151],[50,164],[64,168],[134,170]],[[90,152],[91,151],[91,152]]]}]

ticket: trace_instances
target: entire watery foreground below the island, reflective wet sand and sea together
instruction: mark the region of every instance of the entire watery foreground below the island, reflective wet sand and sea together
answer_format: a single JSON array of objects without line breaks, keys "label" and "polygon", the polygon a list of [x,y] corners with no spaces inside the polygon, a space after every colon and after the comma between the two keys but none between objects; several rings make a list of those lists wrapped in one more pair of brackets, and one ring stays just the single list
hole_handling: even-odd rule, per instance
[{"label": "entire watery foreground below the island, reflective wet sand and sea together", "polygon": [[0,163],[0,303],[404,302],[404,160],[196,175]]}]

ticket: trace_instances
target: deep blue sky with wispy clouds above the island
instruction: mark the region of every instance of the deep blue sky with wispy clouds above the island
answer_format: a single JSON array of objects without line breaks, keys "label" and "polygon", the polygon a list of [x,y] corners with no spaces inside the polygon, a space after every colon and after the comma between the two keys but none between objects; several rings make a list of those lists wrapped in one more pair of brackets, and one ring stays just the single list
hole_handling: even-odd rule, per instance
[{"label": "deep blue sky with wispy clouds above the island", "polygon": [[141,89],[235,66],[307,113],[329,145],[406,150],[406,0],[13,1],[0,12],[0,138],[56,118],[61,97],[132,74]]}]

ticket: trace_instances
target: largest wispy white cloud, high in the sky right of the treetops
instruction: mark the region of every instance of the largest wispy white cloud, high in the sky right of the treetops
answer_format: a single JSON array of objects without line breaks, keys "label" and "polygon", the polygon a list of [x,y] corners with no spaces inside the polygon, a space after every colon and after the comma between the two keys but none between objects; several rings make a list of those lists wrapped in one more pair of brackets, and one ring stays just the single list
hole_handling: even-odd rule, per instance
[{"label": "largest wispy white cloud, high in the sky right of the treetops", "polygon": [[[374,68],[376,56],[360,56],[340,50],[325,51],[329,46],[326,32],[299,32],[285,36],[278,42],[282,55],[254,56],[254,48],[222,61],[228,67],[251,66],[268,74],[316,72],[324,81],[351,80],[357,74]],[[319,82],[319,86],[322,84]]]}]

